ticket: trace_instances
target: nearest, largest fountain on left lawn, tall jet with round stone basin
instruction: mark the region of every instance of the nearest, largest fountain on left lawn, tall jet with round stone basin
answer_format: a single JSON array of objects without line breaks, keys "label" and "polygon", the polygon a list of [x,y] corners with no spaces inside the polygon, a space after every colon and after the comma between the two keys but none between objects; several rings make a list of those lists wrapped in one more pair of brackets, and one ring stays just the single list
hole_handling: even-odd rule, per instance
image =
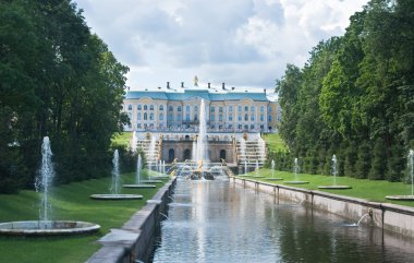
[{"label": "nearest, largest fountain on left lawn, tall jet with round stone basin", "polygon": [[48,136],[41,144],[41,168],[35,180],[36,192],[41,194],[39,219],[26,222],[8,222],[0,224],[0,235],[8,236],[58,236],[97,231],[100,226],[87,222],[50,220],[51,205],[49,191],[54,171],[51,163],[52,152]]}]

